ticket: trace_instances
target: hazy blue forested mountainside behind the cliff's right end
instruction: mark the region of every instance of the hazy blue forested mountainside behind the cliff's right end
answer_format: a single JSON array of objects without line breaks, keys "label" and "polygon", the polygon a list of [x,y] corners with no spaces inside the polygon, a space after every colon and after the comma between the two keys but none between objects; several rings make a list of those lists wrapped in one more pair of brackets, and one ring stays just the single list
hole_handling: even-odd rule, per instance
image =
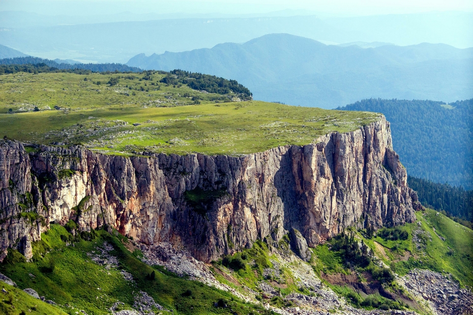
[{"label": "hazy blue forested mountainside behind the cliff's right end", "polygon": [[383,113],[410,176],[473,189],[473,99],[364,99],[339,109]]}]

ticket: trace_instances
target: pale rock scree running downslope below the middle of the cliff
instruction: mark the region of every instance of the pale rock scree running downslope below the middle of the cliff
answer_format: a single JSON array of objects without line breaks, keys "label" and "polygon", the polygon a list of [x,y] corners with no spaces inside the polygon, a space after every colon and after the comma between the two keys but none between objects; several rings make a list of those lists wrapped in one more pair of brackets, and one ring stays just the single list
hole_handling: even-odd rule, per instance
[{"label": "pale rock scree running downslope below the middle of the cliff", "polygon": [[[175,249],[170,243],[160,243],[154,246],[149,246],[142,243],[137,243],[141,252],[144,255],[143,262],[149,265],[161,265],[167,270],[174,272],[180,276],[189,276],[191,279],[216,287],[221,290],[229,291],[232,294],[240,297],[245,301],[252,303],[259,303],[254,296],[260,293],[255,292],[249,288],[242,287],[241,291],[237,291],[227,285],[221,284],[217,281],[214,274],[209,267],[203,262],[194,259],[188,252]],[[312,268],[301,261],[292,252],[274,252],[278,257],[278,261],[271,260],[273,267],[264,269],[266,276],[271,276],[268,281],[261,281],[258,283],[258,288],[261,290],[261,295],[269,300],[274,296],[281,296],[281,293],[270,284],[271,281],[278,278],[280,268],[290,268],[294,278],[295,284],[299,287],[304,287],[309,291],[309,295],[292,293],[284,297],[285,302],[291,302],[294,306],[277,308],[270,305],[263,300],[262,304],[265,308],[274,310],[282,315],[327,315],[331,312],[348,315],[377,315],[377,314],[399,314],[408,315],[416,314],[411,311],[385,311],[385,310],[365,310],[354,308],[345,303],[344,299],[337,296],[335,292],[324,286],[319,278],[315,275]],[[299,262],[301,262],[299,264]],[[224,269],[224,267],[222,267]],[[227,270],[230,274],[231,271]],[[131,314],[131,313],[130,313]],[[120,314],[127,315],[127,314]]]}]

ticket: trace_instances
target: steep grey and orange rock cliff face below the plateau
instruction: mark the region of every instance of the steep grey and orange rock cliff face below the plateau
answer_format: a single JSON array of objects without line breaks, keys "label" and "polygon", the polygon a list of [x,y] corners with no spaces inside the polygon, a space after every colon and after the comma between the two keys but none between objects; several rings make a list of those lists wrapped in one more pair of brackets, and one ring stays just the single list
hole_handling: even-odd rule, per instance
[{"label": "steep grey and orange rock cliff face below the plateau", "polygon": [[291,228],[313,247],[347,226],[412,222],[417,205],[384,118],[243,157],[128,158],[46,146],[27,153],[21,143],[0,143],[0,260],[9,247],[30,258],[51,222],[106,224],[210,261]]}]

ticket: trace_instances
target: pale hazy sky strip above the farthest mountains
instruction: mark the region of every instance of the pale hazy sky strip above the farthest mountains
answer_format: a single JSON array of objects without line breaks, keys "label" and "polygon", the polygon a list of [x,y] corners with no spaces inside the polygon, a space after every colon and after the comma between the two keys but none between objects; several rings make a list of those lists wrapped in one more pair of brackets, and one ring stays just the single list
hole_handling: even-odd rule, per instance
[{"label": "pale hazy sky strip above the farthest mountains", "polygon": [[430,11],[473,11],[472,0],[0,0],[0,11],[40,14],[133,13],[263,13],[279,10],[310,10],[342,16]]}]

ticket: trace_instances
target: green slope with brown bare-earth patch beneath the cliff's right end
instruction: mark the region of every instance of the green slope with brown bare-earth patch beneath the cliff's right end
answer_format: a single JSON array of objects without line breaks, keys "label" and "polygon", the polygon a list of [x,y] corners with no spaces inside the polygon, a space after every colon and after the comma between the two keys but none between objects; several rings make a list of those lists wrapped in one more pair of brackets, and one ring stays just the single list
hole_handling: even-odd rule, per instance
[{"label": "green slope with brown bare-earth patch beneath the cliff's right end", "polygon": [[[416,216],[417,222],[383,228],[374,237],[369,237],[367,231],[352,230],[355,241],[363,241],[373,251],[375,263],[363,266],[347,258],[346,250],[337,248],[334,238],[313,249],[311,264],[325,283],[353,305],[373,306],[374,302],[377,307],[393,307],[395,297],[401,306],[430,313],[423,302],[416,301],[400,286],[393,274],[404,276],[414,269],[429,269],[452,274],[461,286],[471,289],[473,231],[431,209],[417,212]],[[379,267],[376,261],[388,268]],[[382,287],[379,283],[383,283]],[[379,290],[381,296],[369,292],[372,289]]]}]

